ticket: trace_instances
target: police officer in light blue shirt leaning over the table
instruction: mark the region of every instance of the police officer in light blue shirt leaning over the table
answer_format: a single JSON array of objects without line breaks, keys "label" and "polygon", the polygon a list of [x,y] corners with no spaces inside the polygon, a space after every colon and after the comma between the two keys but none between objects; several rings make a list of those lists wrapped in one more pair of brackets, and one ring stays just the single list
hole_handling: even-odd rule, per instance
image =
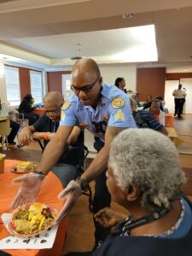
[{"label": "police officer in light blue shirt leaning over the table", "polygon": [[[55,137],[44,150],[38,170],[32,175],[17,178],[22,182],[18,194],[12,203],[17,207],[21,203],[34,200],[41,188],[41,183],[55,162],[59,159],[63,146],[67,143],[73,125],[79,125],[89,130],[102,146],[95,160],[85,170],[82,177],[71,181],[67,188],[61,191],[59,198],[65,196],[64,207],[56,219],[56,223],[67,216],[79,196],[88,188],[91,180],[96,180],[94,197],[94,212],[110,205],[110,195],[106,187],[105,171],[108,166],[109,146],[120,131],[135,128],[136,124],[131,114],[130,100],[125,93],[115,86],[102,83],[102,77],[96,61],[81,59],[73,66],[72,90],[74,95],[62,107],[61,122]],[[32,192],[31,192],[32,191]],[[108,235],[96,226],[96,243]]]}]

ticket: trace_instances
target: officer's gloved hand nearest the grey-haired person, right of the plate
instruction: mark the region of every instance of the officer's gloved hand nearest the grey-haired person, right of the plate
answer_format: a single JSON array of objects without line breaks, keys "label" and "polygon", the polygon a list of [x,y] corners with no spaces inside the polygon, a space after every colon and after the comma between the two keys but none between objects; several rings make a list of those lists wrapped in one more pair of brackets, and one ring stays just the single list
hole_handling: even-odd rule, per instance
[{"label": "officer's gloved hand nearest the grey-haired person, right of the plate", "polygon": [[55,219],[55,224],[61,222],[63,218],[67,216],[67,214],[72,210],[75,203],[78,201],[79,196],[82,194],[82,189],[80,188],[79,183],[75,180],[72,180],[68,183],[67,188],[62,190],[61,193],[58,195],[59,199],[64,199],[65,203],[61,209],[61,212]]}]

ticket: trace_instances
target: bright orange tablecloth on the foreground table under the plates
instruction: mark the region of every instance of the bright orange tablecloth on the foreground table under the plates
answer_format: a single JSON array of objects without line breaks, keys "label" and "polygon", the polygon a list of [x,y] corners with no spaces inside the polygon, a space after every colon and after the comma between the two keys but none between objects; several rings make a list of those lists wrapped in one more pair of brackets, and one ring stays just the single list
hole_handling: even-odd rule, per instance
[{"label": "bright orange tablecloth on the foreground table under the plates", "polygon": [[[10,203],[13,200],[18,185],[11,184],[11,181],[15,177],[19,177],[20,174],[10,172],[10,167],[19,163],[18,160],[5,160],[5,171],[0,174],[0,216],[2,213],[11,212]],[[56,177],[52,172],[49,172],[48,176],[44,179],[42,189],[38,195],[38,201],[43,202],[49,206],[55,207],[58,210],[63,206],[63,201],[57,199],[57,195],[62,190],[62,185],[58,177]],[[65,236],[67,232],[67,218],[65,218],[59,225],[54,246],[50,249],[43,250],[3,250],[10,253],[13,256],[59,256],[61,255],[61,250],[64,244]],[[1,222],[0,218],[0,239],[9,236],[9,232],[6,230]],[[1,249],[1,248],[0,248]]]}]

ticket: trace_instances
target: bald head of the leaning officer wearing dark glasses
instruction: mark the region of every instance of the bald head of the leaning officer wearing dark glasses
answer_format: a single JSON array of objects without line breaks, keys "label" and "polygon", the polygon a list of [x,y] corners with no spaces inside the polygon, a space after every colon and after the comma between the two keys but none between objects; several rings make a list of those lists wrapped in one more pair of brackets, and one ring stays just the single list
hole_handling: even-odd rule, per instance
[{"label": "bald head of the leaning officer wearing dark glasses", "polygon": [[86,106],[96,108],[102,89],[102,77],[96,61],[80,59],[72,70],[72,90]]}]

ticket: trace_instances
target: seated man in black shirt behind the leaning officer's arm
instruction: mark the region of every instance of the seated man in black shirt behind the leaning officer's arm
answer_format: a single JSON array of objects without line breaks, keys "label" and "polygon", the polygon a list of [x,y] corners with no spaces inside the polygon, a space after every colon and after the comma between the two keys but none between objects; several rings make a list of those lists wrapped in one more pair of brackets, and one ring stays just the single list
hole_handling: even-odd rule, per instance
[{"label": "seated man in black shirt behind the leaning officer's arm", "polygon": [[[59,126],[61,119],[61,106],[63,105],[63,96],[60,92],[50,91],[44,96],[45,114],[40,117],[33,125],[25,127],[20,133],[20,143],[28,145],[34,140],[44,139],[44,147],[49,140],[55,136],[55,131]],[[67,186],[77,174],[76,166],[80,160],[84,159],[84,132],[78,126],[74,126],[71,136],[67,141],[72,149],[63,148],[63,154],[56,166],[52,168],[61,179],[63,187]]]}]

